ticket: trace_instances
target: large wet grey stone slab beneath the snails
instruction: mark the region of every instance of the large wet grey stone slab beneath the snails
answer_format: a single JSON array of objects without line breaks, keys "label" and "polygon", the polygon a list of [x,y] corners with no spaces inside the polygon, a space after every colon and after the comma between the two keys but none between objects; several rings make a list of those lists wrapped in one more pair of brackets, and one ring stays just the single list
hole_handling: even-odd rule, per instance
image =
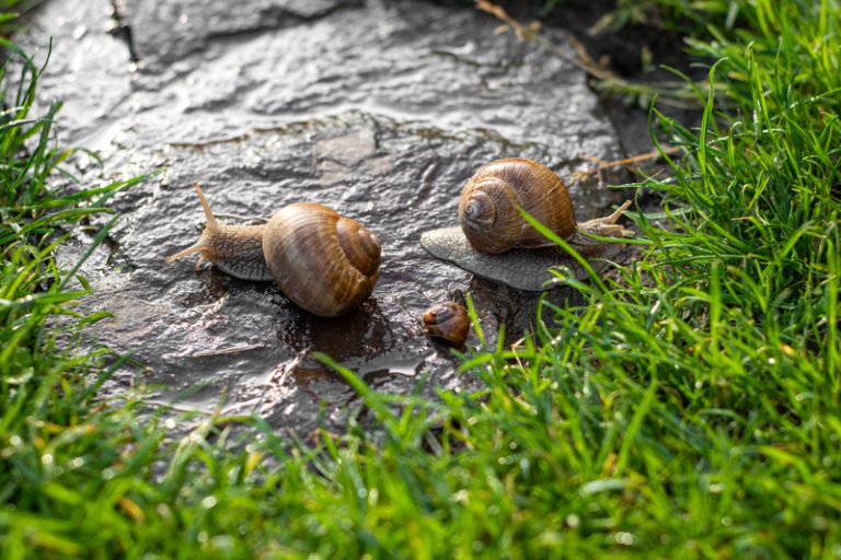
[{"label": "large wet grey stone slab beneath the snails", "polygon": [[[72,78],[93,70],[69,60],[87,55],[64,27],[50,27],[71,16],[61,15],[64,5],[48,3],[37,22],[61,45],[43,82],[51,96],[84,100]],[[114,314],[99,324],[97,340],[145,364],[154,401],[209,410],[224,393],[226,410],[257,411],[278,428],[341,424],[357,397],[313,352],[377,390],[420,385],[433,395],[476,381],[457,374],[450,349],[423,334],[428,306],[469,293],[487,345],[500,327],[516,338],[533,326],[537,295],[434,259],[419,238],[456,224],[463,183],[491,160],[531,158],[568,178],[591,165],[581,154],[620,156],[572,65],[494,34],[497,22],[485,14],[418,1],[126,0],[118,8],[131,49],[115,48],[103,62],[110,68],[95,71],[96,90],[122,102],[104,115],[100,97],[76,106],[62,141],[96,140],[102,167],[77,161],[89,184],[162,170],[114,199],[123,218],[84,267],[96,288],[85,311]],[[85,18],[102,30],[113,14]],[[552,37],[563,44],[562,33]],[[273,283],[212,266],[196,271],[192,258],[164,264],[204,225],[193,180],[217,214],[231,215],[228,223],[297,201],[361,222],[383,247],[373,295],[326,319],[297,308]],[[595,183],[571,182],[579,220],[621,198]],[[89,243],[79,232],[61,258],[73,262]],[[563,304],[571,295],[551,298]],[[474,332],[466,346],[480,346]],[[105,390],[123,390],[135,375],[122,369]]]}]

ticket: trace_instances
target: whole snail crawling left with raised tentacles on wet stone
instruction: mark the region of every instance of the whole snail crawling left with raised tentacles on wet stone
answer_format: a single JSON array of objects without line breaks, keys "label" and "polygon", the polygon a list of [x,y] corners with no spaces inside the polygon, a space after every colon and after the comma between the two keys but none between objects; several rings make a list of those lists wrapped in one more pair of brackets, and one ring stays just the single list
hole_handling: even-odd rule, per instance
[{"label": "whole snail crawling left with raised tentacles on wet stone", "polygon": [[263,225],[217,222],[201,187],[193,182],[207,226],[195,245],[166,262],[199,253],[205,260],[243,280],[275,280],[298,306],[322,317],[347,313],[373,291],[380,268],[380,240],[355,220],[326,206],[296,202]]}]

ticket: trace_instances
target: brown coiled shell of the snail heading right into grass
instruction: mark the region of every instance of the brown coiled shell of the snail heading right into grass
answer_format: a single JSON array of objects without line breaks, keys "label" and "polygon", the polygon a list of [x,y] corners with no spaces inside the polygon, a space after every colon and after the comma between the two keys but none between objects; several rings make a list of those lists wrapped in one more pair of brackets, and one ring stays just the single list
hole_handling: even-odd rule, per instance
[{"label": "brown coiled shell of the snail heading right into grass", "polygon": [[575,233],[573,202],[561,177],[543,164],[518,158],[476,171],[461,191],[459,222],[470,244],[482,253],[549,245],[519,209],[562,238]]}]

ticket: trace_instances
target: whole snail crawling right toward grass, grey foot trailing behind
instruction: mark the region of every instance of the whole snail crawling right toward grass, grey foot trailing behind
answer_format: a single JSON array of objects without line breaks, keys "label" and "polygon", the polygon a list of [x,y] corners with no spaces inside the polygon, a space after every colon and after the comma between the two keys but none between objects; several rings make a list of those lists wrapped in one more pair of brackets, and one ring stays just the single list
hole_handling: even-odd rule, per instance
[{"label": "whole snail crawling right toward grass, grey foot trailing behind", "polygon": [[587,278],[587,270],[526,222],[520,208],[581,256],[611,258],[621,244],[581,232],[602,237],[632,233],[617,224],[630,206],[629,200],[608,217],[577,223],[566,185],[552,170],[531,160],[497,160],[480,167],[464,185],[459,199],[460,228],[425,232],[420,245],[474,275],[519,290],[540,291],[555,279],[552,268],[568,267],[579,280]]}]

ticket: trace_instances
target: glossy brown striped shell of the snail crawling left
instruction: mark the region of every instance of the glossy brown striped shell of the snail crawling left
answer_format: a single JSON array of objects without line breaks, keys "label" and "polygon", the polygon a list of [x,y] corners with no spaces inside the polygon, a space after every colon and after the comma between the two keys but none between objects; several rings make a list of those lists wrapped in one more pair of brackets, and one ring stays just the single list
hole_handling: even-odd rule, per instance
[{"label": "glossy brown striped shell of the snail crawling left", "polygon": [[280,290],[314,315],[358,306],[379,278],[380,240],[355,220],[314,202],[281,208],[263,234],[263,254]]}]

